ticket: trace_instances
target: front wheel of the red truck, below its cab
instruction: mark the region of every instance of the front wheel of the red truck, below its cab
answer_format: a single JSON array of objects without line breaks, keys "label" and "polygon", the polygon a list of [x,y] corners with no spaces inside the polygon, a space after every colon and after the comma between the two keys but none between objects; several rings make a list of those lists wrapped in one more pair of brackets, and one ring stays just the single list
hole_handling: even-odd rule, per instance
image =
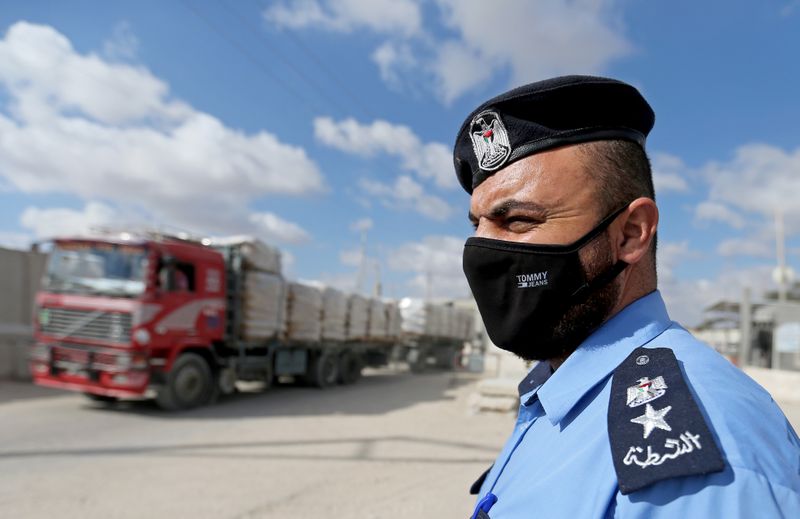
[{"label": "front wheel of the red truck, below its cab", "polygon": [[210,403],[216,395],[214,377],[206,360],[196,353],[184,353],[159,388],[156,403],[165,411],[182,411]]}]

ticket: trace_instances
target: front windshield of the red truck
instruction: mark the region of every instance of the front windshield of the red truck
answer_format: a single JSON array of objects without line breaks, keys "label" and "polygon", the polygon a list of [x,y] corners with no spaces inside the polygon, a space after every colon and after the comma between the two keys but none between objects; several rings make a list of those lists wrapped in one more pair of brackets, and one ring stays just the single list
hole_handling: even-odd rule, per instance
[{"label": "front windshield of the red truck", "polygon": [[106,243],[58,243],[50,253],[42,287],[50,292],[133,297],[144,292],[144,247]]}]

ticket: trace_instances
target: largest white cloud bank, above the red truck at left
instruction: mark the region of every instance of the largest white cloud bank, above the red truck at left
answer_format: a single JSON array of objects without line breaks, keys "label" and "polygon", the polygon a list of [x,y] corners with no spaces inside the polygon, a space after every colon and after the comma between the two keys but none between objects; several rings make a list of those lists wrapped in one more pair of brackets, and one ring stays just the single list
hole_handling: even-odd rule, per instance
[{"label": "largest white cloud bank, above the red truck at left", "polygon": [[0,87],[8,97],[0,106],[0,183],[19,191],[102,199],[199,232],[249,226],[293,242],[305,231],[270,213],[253,216],[248,206],[324,188],[302,148],[228,128],[172,99],[146,69],[79,54],[50,27],[19,22],[8,30]]}]

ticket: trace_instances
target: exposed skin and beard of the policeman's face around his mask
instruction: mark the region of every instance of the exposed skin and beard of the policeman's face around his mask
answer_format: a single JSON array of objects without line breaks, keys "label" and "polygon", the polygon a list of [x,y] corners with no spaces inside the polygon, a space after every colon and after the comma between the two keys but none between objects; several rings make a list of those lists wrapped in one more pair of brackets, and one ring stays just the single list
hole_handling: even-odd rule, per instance
[{"label": "exposed skin and beard of the policeman's face around his mask", "polygon": [[[533,244],[572,243],[605,217],[585,155],[575,146],[538,153],[498,171],[472,193],[475,236]],[[580,251],[588,279],[615,261],[608,231]],[[571,307],[554,323],[542,323],[529,347],[514,351],[527,360],[568,356],[599,326],[619,299],[614,282]]]}]

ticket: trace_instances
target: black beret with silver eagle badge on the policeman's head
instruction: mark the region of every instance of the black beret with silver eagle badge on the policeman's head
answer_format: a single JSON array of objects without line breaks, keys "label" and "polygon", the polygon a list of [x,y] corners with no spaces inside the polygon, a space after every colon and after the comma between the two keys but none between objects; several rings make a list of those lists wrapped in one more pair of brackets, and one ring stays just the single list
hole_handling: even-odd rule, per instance
[{"label": "black beret with silver eagle badge on the policeman's head", "polygon": [[495,171],[540,151],[620,139],[644,148],[655,114],[631,85],[562,76],[521,86],[476,108],[461,125],[453,160],[467,191]]}]

